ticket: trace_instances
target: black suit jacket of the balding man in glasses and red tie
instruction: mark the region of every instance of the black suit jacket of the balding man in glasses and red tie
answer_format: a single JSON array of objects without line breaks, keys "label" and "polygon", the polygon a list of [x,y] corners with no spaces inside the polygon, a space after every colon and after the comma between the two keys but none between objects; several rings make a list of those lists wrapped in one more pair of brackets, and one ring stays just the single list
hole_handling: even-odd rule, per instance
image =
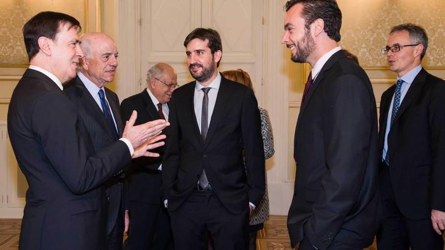
[{"label": "black suit jacket of the balding man in glasses and red tie", "polygon": [[[128,120],[133,110],[136,110],[138,112],[136,125],[161,119],[155,105],[151,101],[147,89],[124,99],[120,110],[123,121]],[[158,153],[160,157],[141,157],[132,160],[130,170],[127,174],[128,198],[130,201],[161,204],[161,178],[158,173],[158,168],[162,163],[164,149],[165,146],[162,146],[153,150],[153,152]]]}]

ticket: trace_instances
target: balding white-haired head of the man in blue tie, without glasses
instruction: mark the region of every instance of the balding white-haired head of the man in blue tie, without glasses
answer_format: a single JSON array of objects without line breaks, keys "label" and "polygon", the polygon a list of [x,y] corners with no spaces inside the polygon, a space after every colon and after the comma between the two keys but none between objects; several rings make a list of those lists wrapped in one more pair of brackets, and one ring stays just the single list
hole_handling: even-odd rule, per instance
[{"label": "balding white-haired head of the man in blue tie, without glasses", "polygon": [[80,36],[80,47],[85,57],[80,71],[98,87],[113,81],[116,72],[116,43],[104,33],[90,32]]}]

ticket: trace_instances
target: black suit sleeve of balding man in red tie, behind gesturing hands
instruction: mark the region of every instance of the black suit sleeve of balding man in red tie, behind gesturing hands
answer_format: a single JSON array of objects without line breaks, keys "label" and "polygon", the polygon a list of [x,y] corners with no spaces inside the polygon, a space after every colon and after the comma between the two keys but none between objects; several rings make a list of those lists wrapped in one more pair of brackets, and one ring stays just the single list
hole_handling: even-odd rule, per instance
[{"label": "black suit sleeve of balding man in red tie, behind gesturing hands", "polygon": [[[124,101],[122,101],[122,104],[120,105],[120,114],[121,114],[121,118],[122,118],[122,124],[123,126],[125,126],[126,121],[128,121],[128,119],[130,119],[131,113],[133,112],[133,110],[138,111],[138,118],[136,119],[135,125],[140,125],[143,124],[145,122],[149,122],[144,121],[142,119],[142,115],[141,113],[141,108],[142,107],[135,107],[136,105],[133,105],[131,103],[131,101],[129,101],[128,99],[124,99]],[[162,156],[160,150],[162,147],[158,147],[155,148],[153,150],[151,150],[150,152],[153,153],[159,153],[159,155]],[[145,170],[150,170],[150,171],[156,171],[159,167],[160,164],[160,157],[139,157],[136,159],[133,159],[131,161],[131,169],[145,169]]]}]

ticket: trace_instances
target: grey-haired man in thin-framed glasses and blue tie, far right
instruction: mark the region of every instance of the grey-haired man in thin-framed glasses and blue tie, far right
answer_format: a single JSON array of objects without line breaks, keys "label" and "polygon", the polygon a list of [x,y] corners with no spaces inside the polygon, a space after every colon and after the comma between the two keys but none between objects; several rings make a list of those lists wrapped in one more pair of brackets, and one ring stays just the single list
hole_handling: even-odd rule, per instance
[{"label": "grey-haired man in thin-framed glasses and blue tie, far right", "polygon": [[379,250],[443,249],[445,81],[420,65],[427,46],[422,27],[401,24],[381,49],[397,81],[380,102]]}]

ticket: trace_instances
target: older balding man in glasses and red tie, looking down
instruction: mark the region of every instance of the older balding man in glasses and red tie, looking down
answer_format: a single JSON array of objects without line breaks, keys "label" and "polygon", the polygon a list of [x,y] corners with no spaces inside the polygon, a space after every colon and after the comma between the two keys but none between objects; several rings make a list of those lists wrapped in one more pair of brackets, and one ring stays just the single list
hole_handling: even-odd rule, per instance
[{"label": "older balding man in glasses and red tie, looking down", "polygon": [[[159,118],[167,120],[167,103],[177,86],[176,72],[170,65],[154,65],[147,72],[147,88],[122,101],[122,119],[125,121],[131,111],[136,110],[136,124]],[[160,157],[144,157],[131,163],[127,192],[129,211],[126,214],[130,223],[124,249],[173,249],[170,219],[160,195],[164,147],[160,147],[156,153]]]}]

